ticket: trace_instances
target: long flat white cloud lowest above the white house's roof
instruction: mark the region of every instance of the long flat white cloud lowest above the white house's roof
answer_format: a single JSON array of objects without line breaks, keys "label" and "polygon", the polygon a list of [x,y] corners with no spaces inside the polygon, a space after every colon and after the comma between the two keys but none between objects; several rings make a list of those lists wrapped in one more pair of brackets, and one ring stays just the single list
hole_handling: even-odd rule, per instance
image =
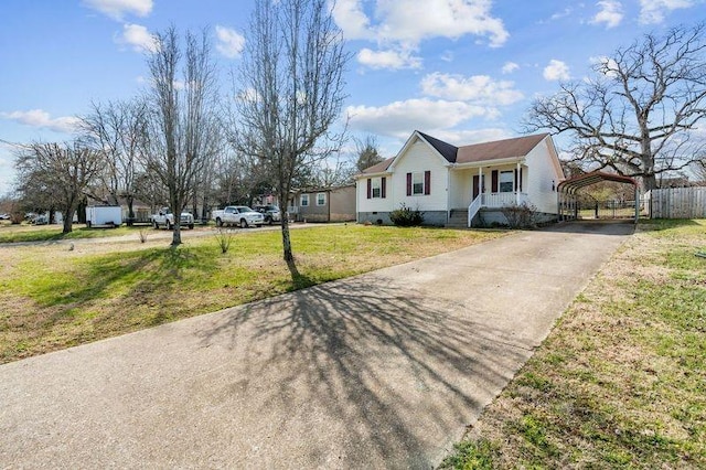
[{"label": "long flat white cloud lowest above the white house's roof", "polygon": [[385,106],[350,106],[351,128],[371,133],[408,137],[414,129],[449,129],[489,110],[463,102],[408,99]]}]

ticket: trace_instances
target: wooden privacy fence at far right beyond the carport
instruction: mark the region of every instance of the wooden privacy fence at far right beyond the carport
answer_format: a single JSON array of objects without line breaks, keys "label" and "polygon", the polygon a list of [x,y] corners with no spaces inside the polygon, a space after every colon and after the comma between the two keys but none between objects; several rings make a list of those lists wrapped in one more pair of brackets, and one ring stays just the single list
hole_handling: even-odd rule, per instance
[{"label": "wooden privacy fence at far right beyond the carport", "polygon": [[706,186],[648,191],[651,218],[706,218]]}]

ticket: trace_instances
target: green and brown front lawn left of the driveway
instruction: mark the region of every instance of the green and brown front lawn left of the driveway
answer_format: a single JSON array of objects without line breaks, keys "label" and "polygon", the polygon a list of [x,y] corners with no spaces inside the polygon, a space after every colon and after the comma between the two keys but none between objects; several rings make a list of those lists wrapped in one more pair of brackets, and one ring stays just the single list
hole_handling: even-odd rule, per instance
[{"label": "green and brown front lawn left of the driveway", "polygon": [[501,232],[362,225],[291,231],[300,276],[281,260],[279,231],[235,232],[178,248],[135,237],[2,247],[0,362],[216,311],[314,284],[458,249]]}]

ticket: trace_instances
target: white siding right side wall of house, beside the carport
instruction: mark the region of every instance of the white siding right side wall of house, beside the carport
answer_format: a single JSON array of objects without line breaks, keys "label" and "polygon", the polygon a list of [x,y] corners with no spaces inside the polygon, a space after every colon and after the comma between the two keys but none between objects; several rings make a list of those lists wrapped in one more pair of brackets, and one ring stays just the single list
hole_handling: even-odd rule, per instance
[{"label": "white siding right side wall of house, beside the carport", "polygon": [[530,201],[539,212],[556,214],[556,192],[552,190],[552,181],[556,188],[564,177],[558,173],[550,151],[547,139],[545,139],[527,153],[526,192]]}]

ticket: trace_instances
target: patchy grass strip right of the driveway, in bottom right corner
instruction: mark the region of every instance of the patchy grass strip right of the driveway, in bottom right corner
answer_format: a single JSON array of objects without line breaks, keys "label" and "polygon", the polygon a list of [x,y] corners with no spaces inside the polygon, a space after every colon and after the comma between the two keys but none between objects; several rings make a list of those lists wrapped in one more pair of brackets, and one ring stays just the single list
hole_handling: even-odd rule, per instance
[{"label": "patchy grass strip right of the driveway, in bottom right corner", "polygon": [[442,467],[706,468],[704,248],[641,224]]}]

